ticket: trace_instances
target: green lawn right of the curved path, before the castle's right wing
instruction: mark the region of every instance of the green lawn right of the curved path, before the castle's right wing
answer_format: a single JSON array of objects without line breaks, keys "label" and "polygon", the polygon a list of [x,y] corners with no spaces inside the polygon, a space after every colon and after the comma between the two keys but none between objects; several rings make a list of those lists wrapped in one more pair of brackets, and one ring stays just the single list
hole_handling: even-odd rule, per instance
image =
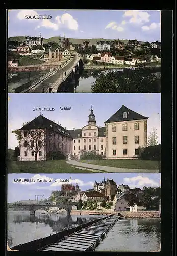
[{"label": "green lawn right of the curved path, before the castle's right wing", "polygon": [[140,159],[81,160],[83,163],[117,167],[123,169],[158,170],[159,162]]}]

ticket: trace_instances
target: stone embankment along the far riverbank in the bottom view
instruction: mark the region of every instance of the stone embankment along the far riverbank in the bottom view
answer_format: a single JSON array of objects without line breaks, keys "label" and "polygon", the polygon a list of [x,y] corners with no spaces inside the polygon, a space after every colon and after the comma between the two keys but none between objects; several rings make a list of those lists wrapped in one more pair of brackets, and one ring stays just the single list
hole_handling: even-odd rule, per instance
[{"label": "stone embankment along the far riverbank in the bottom view", "polygon": [[160,218],[160,211],[137,211],[137,212],[130,212],[130,211],[113,211],[113,210],[71,210],[71,214],[80,214],[81,215],[91,215],[91,214],[100,214],[100,215],[109,215],[109,214],[114,214],[118,215],[121,214],[124,218],[128,219],[143,219],[143,218],[148,218],[148,219],[156,219]]}]

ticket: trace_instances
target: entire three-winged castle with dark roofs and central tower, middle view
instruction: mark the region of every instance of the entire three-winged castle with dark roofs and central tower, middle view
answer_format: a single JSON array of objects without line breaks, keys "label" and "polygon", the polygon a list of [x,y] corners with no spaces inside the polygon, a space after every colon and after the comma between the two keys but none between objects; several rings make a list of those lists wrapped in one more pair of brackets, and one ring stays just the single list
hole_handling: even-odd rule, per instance
[{"label": "entire three-winged castle with dark roofs and central tower, middle view", "polygon": [[[96,125],[91,108],[86,126],[67,130],[41,114],[18,130],[20,160],[47,160],[57,152],[78,159],[86,152],[106,159],[138,158],[139,147],[147,146],[147,119],[122,105],[101,127]],[[101,186],[98,185],[98,190]]]}]

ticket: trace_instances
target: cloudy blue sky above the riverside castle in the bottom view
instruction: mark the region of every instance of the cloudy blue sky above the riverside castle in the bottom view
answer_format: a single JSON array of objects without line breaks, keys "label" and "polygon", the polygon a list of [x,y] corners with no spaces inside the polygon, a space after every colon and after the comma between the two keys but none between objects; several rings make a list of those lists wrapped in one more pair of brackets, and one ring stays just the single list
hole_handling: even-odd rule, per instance
[{"label": "cloudy blue sky above the riverside castle in the bottom view", "polygon": [[[48,198],[52,190],[61,190],[62,184],[78,182],[81,191],[93,188],[97,182],[113,179],[117,185],[128,185],[130,188],[159,187],[161,186],[161,174],[8,174],[8,203],[20,200],[35,200],[35,195],[44,195]],[[17,183],[14,179],[33,179],[35,182]],[[37,182],[37,179],[46,179],[47,182]],[[55,181],[57,179],[57,181]],[[69,179],[69,182],[60,182],[59,179]],[[50,181],[51,180],[51,181]],[[23,191],[23,193],[21,193]],[[40,198],[42,199],[42,197]]]}]

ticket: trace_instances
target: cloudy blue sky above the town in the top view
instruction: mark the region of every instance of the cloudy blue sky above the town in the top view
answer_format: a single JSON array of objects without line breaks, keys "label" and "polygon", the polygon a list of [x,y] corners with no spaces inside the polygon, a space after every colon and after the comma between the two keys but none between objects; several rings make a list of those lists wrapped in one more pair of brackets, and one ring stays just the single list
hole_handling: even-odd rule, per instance
[{"label": "cloudy blue sky above the town in the top view", "polygon": [[[24,19],[50,15],[52,19]],[[149,10],[10,10],[8,37],[65,36],[67,38],[135,39],[161,41],[161,12]]]}]

